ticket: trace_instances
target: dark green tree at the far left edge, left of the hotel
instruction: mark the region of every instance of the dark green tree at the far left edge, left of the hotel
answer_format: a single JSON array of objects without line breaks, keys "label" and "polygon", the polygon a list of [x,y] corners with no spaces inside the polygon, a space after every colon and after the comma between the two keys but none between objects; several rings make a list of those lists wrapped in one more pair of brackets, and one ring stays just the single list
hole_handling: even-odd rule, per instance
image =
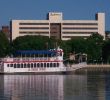
[{"label": "dark green tree at the far left edge, left of the hotel", "polygon": [[3,32],[0,32],[0,57],[5,57],[10,53],[9,40]]}]

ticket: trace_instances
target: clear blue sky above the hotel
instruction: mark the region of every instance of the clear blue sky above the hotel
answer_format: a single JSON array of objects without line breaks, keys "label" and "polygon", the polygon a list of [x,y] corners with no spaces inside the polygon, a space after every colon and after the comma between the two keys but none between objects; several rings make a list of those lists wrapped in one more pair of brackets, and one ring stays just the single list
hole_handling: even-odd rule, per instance
[{"label": "clear blue sky above the hotel", "polygon": [[12,19],[45,20],[48,12],[62,12],[65,20],[94,20],[104,12],[110,31],[110,0],[0,0],[0,27]]}]

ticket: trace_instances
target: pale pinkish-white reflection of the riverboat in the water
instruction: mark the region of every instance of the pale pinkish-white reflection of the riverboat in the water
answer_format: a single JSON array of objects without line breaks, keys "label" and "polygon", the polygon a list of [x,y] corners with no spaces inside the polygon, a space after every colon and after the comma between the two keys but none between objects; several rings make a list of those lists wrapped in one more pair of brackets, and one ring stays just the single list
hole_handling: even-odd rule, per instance
[{"label": "pale pinkish-white reflection of the riverboat in the water", "polygon": [[11,100],[63,100],[63,76],[4,76],[4,96]]}]

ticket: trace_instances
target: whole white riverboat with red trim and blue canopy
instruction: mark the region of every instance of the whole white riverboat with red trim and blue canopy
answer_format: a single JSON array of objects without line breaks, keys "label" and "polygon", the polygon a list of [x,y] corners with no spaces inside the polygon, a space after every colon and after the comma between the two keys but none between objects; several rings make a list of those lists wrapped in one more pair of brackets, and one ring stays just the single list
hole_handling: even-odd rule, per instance
[{"label": "whole white riverboat with red trim and blue canopy", "polygon": [[[57,49],[38,51],[19,50],[14,57],[6,57],[1,60],[0,73],[54,74],[73,71],[74,68],[64,65],[63,54],[63,50],[59,47]],[[77,68],[79,65],[81,66],[81,64],[75,64]]]}]

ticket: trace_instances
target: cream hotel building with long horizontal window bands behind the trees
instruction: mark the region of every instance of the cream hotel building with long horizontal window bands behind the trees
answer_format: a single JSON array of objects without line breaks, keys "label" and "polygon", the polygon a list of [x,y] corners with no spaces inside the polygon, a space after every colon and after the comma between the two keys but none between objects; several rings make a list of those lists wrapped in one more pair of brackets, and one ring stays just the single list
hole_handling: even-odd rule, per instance
[{"label": "cream hotel building with long horizontal window bands behind the trees", "polygon": [[41,35],[68,40],[87,38],[93,33],[105,39],[105,14],[97,13],[95,20],[63,20],[63,14],[50,12],[46,20],[12,20],[11,39],[24,35]]}]

